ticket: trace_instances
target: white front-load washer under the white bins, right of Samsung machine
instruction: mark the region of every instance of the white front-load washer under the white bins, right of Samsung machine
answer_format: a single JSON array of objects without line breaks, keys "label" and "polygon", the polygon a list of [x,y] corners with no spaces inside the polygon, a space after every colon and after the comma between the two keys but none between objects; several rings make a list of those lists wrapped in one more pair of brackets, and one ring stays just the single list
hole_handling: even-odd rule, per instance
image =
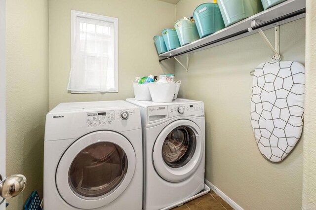
[{"label": "white front-load washer under the white bins, right of Samsung machine", "polygon": [[126,99],[139,106],[143,127],[143,210],[179,204],[204,189],[204,104],[176,99],[154,103]]}]

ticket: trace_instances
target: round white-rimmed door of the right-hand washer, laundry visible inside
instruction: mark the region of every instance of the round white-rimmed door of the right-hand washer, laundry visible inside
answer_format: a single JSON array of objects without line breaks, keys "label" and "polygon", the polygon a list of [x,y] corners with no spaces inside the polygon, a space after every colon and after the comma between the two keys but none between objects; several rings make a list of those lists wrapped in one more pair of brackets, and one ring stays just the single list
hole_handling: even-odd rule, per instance
[{"label": "round white-rimmed door of the right-hand washer, laundry visible inside", "polygon": [[153,164],[163,179],[179,182],[194,174],[204,153],[201,130],[190,120],[177,120],[166,126],[155,141]]}]

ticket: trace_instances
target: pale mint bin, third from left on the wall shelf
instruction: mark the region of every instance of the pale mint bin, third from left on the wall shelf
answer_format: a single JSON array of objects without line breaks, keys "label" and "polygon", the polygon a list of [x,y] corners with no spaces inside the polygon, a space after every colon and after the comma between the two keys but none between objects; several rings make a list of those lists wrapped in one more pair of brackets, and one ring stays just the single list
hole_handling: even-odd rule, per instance
[{"label": "pale mint bin, third from left on the wall shelf", "polygon": [[199,39],[197,26],[194,21],[178,20],[174,24],[181,46],[189,44]]}]

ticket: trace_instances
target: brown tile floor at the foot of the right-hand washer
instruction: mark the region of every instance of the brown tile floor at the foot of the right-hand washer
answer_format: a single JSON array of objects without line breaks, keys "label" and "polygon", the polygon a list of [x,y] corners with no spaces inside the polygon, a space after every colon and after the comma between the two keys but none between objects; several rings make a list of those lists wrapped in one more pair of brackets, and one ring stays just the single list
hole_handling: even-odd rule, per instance
[{"label": "brown tile floor at the foot of the right-hand washer", "polygon": [[180,207],[172,210],[234,210],[228,203],[219,197],[214,191],[196,198]]}]

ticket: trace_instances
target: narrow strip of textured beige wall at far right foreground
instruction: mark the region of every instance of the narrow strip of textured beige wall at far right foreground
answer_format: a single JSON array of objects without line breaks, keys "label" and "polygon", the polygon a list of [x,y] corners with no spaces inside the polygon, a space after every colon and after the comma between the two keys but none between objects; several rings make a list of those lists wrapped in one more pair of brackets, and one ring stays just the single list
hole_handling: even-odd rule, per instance
[{"label": "narrow strip of textured beige wall at far right foreground", "polygon": [[306,1],[303,210],[316,209],[316,1]]}]

